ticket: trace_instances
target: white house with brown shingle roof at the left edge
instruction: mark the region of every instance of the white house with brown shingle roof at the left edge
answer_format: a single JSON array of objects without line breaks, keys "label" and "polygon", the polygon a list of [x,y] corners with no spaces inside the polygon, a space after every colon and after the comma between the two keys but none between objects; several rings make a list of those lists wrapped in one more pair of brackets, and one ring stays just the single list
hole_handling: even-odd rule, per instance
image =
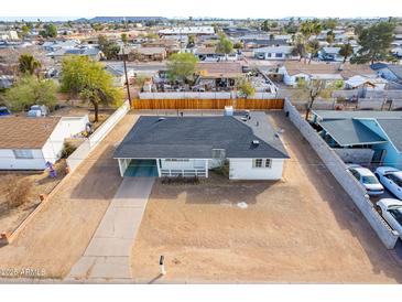
[{"label": "white house with brown shingle roof at the left edge", "polygon": [[55,163],[64,140],[86,129],[83,117],[0,118],[0,170],[44,170]]}]

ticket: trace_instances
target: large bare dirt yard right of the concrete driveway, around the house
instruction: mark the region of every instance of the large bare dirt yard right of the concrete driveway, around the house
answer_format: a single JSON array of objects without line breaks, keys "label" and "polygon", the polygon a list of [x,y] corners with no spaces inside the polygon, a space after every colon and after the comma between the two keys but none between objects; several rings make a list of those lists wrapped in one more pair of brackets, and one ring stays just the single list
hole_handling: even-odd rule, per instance
[{"label": "large bare dirt yard right of the concrete driveway, around the house", "polygon": [[135,281],[402,282],[402,268],[297,129],[281,111],[269,118],[285,130],[292,158],[283,180],[156,181],[132,249]]}]

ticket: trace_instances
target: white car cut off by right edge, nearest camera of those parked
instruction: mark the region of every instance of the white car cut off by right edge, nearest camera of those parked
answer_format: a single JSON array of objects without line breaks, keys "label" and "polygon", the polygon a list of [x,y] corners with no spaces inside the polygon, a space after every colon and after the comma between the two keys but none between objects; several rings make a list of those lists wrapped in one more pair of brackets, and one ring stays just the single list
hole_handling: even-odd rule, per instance
[{"label": "white car cut off by right edge, nearest camera of those parked", "polygon": [[402,238],[402,202],[393,198],[382,198],[377,203],[376,208]]}]

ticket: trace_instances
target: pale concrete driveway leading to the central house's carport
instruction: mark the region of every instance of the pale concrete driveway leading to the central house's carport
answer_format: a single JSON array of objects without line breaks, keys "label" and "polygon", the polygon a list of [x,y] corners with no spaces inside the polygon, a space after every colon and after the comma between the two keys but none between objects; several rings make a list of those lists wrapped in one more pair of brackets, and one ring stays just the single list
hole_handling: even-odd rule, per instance
[{"label": "pale concrete driveway leading to the central house's carport", "polygon": [[124,177],[83,257],[66,280],[131,280],[130,255],[154,177]]}]

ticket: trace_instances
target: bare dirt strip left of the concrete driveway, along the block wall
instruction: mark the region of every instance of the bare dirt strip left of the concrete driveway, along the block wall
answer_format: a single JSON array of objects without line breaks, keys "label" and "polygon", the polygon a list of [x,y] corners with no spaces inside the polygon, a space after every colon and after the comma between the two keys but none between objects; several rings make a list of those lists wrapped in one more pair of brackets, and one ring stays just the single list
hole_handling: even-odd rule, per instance
[{"label": "bare dirt strip left of the concrete driveway, along the block wall", "polygon": [[69,272],[87,248],[122,181],[112,153],[135,120],[137,116],[127,115],[18,239],[0,248],[0,271],[41,270],[43,278],[64,278]]}]

